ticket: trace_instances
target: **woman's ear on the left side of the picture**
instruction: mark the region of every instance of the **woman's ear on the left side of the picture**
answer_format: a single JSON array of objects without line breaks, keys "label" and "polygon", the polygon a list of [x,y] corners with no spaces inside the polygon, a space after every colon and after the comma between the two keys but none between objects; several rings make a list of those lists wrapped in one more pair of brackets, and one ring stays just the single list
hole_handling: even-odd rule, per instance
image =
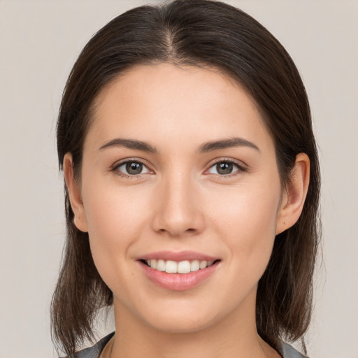
[{"label": "woman's ear on the left side of the picture", "polygon": [[75,215],[73,223],[80,231],[87,232],[87,220],[85,215],[85,208],[80,192],[80,185],[73,176],[73,162],[71,153],[66,153],[64,156],[64,180],[69,192],[69,199],[71,208]]}]

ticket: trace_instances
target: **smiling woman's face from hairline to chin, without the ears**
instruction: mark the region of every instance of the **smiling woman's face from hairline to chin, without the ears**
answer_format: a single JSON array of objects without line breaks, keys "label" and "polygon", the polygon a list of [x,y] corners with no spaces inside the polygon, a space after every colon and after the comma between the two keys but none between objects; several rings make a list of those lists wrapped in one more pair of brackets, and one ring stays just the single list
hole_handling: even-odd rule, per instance
[{"label": "smiling woman's face from hairline to chin, without the ears", "polygon": [[282,187],[250,96],[218,71],[159,64],[96,103],[71,202],[116,314],[171,332],[255,317]]}]

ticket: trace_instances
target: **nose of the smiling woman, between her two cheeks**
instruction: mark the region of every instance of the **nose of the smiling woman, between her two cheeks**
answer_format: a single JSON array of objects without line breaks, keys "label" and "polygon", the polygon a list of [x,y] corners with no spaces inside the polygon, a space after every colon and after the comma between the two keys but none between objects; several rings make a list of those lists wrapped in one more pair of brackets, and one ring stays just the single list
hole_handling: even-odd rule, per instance
[{"label": "nose of the smiling woman, between her two cheeks", "polygon": [[190,178],[162,180],[155,191],[152,229],[173,238],[193,236],[204,228],[199,191]]}]

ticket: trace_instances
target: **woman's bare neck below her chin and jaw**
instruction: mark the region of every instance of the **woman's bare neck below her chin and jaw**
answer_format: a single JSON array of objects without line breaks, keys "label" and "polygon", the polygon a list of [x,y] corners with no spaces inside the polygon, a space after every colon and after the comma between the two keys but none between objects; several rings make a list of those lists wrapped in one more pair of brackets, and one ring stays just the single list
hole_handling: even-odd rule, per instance
[{"label": "woman's bare neck below her chin and jaw", "polygon": [[115,302],[116,333],[110,358],[267,358],[279,357],[257,335],[255,306],[243,307],[215,325],[197,331],[160,331]]}]

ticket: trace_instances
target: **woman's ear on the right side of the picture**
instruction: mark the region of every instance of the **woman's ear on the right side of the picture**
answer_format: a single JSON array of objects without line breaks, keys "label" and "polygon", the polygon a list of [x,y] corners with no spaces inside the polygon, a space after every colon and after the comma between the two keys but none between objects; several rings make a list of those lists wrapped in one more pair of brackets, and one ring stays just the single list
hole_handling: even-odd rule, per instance
[{"label": "woman's ear on the right side of the picture", "polygon": [[289,176],[278,210],[276,235],[292,227],[302,213],[310,182],[310,159],[306,153],[296,156],[294,168]]}]

